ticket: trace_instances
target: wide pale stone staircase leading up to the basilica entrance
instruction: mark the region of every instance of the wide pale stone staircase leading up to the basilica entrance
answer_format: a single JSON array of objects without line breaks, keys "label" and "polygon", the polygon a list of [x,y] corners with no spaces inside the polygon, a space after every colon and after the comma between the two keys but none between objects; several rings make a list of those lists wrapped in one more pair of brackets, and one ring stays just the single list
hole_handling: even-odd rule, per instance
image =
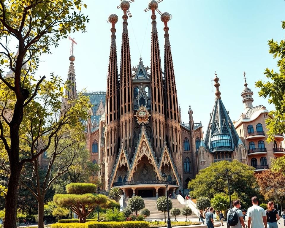
[{"label": "wide pale stone staircase leading up to the basilica entrance", "polygon": [[[148,210],[151,212],[151,215],[149,217],[147,217],[147,219],[163,219],[164,220],[164,212],[161,212],[161,211],[158,211],[156,210],[156,200],[157,198],[143,198],[144,202],[145,202],[145,208],[148,208]],[[173,207],[172,208],[179,208],[180,210],[185,206],[185,205],[182,205],[177,199],[171,199],[172,201],[172,205]],[[128,201],[125,200],[125,203],[126,205],[128,205]],[[125,206],[125,203],[124,203],[124,206]],[[170,213],[170,212],[169,212]],[[174,219],[174,216],[171,216],[170,214],[170,218],[171,219]],[[176,219],[178,218],[185,218],[185,216],[182,216],[182,215],[179,215],[179,216],[176,216]],[[167,213],[166,213],[166,219],[167,219]],[[192,212],[192,215],[191,216],[188,216],[188,219],[190,220],[199,220],[199,217]]]}]

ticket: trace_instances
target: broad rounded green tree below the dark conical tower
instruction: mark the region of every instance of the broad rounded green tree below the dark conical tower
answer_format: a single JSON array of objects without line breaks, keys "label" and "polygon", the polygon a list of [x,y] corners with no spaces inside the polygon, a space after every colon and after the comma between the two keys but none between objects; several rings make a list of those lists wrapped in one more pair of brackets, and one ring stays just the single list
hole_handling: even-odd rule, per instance
[{"label": "broad rounded green tree below the dark conical tower", "polygon": [[188,188],[193,189],[190,194],[194,198],[206,196],[209,199],[217,193],[229,194],[225,179],[226,168],[232,173],[232,178],[229,180],[231,193],[236,192],[239,198],[246,202],[244,207],[249,207],[251,196],[260,197],[254,168],[237,160],[215,162],[200,170],[195,179],[188,183]]}]

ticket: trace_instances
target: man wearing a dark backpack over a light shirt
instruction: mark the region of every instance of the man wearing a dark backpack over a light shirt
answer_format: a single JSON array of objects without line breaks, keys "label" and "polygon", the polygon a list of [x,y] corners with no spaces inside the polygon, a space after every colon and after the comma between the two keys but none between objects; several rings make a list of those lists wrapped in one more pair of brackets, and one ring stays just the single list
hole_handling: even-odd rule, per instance
[{"label": "man wearing a dark backpack over a light shirt", "polygon": [[230,228],[246,228],[243,221],[243,212],[240,210],[240,201],[234,200],[234,207],[228,211],[227,224]]}]

